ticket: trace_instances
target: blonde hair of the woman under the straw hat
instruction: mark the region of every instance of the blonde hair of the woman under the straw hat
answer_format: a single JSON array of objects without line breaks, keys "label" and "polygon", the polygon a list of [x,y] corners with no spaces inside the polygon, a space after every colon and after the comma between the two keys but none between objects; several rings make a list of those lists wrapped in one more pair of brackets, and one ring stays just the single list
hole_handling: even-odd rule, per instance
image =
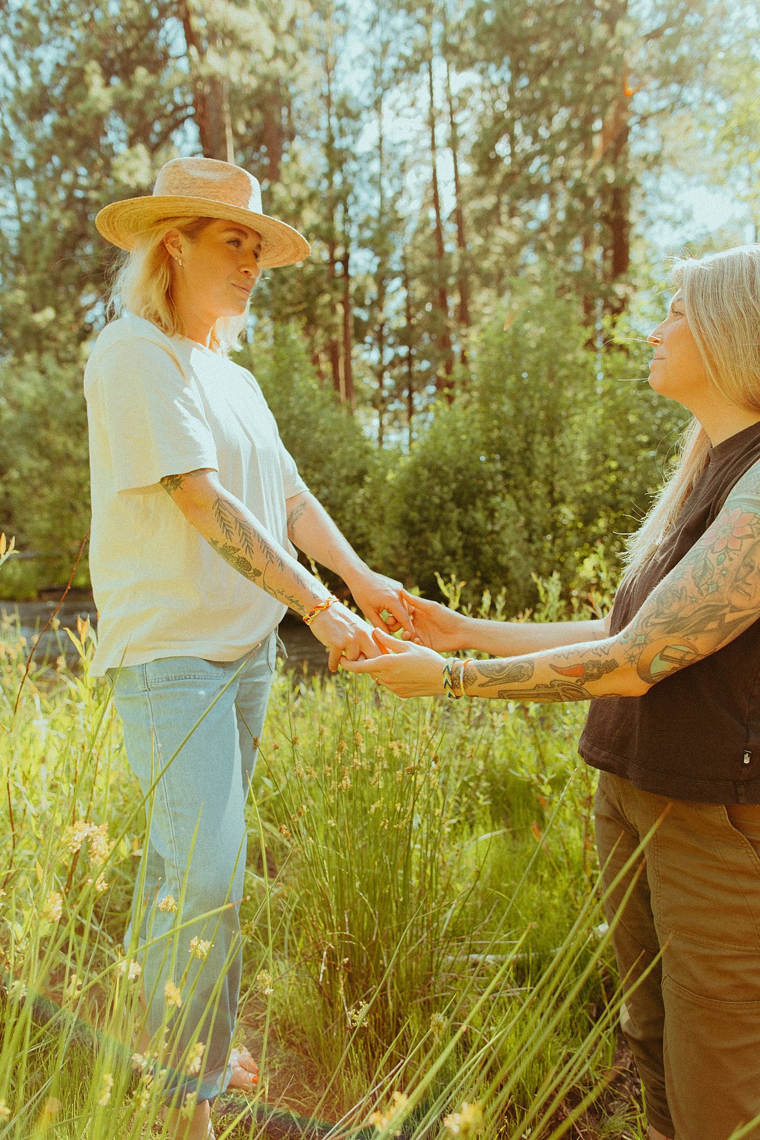
[{"label": "blonde hair of the woman under the straw hat", "polygon": [[[213,218],[163,218],[142,230],[131,250],[116,263],[106,315],[117,317],[124,309],[152,320],[167,336],[187,336],[185,321],[172,296],[171,254],[164,238],[178,229],[191,241],[198,238]],[[220,317],[211,331],[209,348],[226,356],[240,347],[247,325],[247,308],[239,317]]]}]

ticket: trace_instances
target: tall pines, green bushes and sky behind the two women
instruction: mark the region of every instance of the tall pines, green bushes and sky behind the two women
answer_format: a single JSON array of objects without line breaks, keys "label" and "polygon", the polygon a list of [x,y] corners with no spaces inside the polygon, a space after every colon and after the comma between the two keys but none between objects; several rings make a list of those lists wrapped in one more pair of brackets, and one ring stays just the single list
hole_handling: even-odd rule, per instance
[{"label": "tall pines, green bushes and sky behind the two women", "polygon": [[760,236],[759,27],[757,0],[0,0],[5,595],[65,584],[88,531],[95,214],[201,153],[311,242],[242,359],[362,555],[508,612],[614,571],[684,423],[646,385],[665,254]]}]

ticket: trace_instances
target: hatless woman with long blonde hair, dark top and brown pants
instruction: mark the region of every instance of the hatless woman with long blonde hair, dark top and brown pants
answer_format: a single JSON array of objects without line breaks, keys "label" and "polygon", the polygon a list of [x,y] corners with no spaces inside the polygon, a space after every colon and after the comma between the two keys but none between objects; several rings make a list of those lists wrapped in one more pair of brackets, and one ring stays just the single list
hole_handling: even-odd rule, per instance
[{"label": "hatless woman with long blonde hair, dark top and brown pants", "polygon": [[[649,383],[694,418],[612,612],[477,621],[408,596],[422,644],[376,632],[392,656],[343,663],[401,697],[591,702],[579,751],[610,918],[630,888],[612,937],[649,1135],[758,1140],[760,245],[673,277]],[[495,659],[440,656],[465,646]]]}]

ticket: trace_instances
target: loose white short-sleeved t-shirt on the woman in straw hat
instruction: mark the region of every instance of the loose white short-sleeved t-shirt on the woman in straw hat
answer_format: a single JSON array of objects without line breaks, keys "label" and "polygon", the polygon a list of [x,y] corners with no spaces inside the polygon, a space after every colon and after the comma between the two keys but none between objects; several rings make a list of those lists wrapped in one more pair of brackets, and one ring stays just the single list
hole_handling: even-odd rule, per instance
[{"label": "loose white short-sleeved t-shirt on the woman in straw hat", "polygon": [[128,312],[96,340],[84,396],[98,608],[92,675],[162,657],[236,660],[286,606],[234,570],[160,480],[212,467],[294,554],[285,500],[308,488],[259,384],[240,365]]}]

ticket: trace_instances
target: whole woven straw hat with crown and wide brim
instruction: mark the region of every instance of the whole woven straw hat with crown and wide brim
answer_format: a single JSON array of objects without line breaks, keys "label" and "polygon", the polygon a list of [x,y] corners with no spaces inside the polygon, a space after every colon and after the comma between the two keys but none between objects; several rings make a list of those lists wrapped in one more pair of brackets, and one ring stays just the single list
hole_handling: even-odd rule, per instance
[{"label": "whole woven straw hat with crown and wide brim", "polygon": [[261,234],[262,269],[289,266],[309,254],[292,226],[261,212],[259,181],[242,166],[216,158],[172,158],[158,171],[153,194],[112,202],[95,219],[103,236],[131,250],[137,235],[164,218],[229,218]]}]

